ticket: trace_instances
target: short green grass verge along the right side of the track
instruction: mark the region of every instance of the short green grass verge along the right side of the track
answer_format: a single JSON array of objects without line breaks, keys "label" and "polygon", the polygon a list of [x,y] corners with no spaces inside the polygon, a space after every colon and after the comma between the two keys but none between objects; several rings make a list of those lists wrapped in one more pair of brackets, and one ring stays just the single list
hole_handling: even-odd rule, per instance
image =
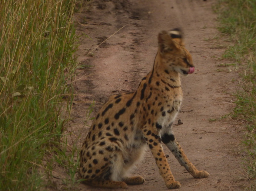
[{"label": "short green grass verge along the right side of the track", "polygon": [[252,183],[247,189],[256,190],[256,3],[255,0],[219,0],[216,10],[219,30],[228,35],[232,44],[223,58],[236,63],[242,78],[233,117],[246,126],[245,171]]}]

